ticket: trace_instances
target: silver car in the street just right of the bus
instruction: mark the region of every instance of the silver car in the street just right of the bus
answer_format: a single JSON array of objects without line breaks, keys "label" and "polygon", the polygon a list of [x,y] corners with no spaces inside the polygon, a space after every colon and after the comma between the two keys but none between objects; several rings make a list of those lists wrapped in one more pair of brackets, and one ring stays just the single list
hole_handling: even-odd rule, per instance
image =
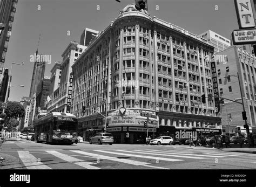
[{"label": "silver car in the street just right of the bus", "polygon": [[112,145],[113,142],[114,142],[114,136],[111,133],[96,133],[89,140],[90,144],[92,144],[92,143],[98,143],[98,144],[109,143],[110,145]]}]

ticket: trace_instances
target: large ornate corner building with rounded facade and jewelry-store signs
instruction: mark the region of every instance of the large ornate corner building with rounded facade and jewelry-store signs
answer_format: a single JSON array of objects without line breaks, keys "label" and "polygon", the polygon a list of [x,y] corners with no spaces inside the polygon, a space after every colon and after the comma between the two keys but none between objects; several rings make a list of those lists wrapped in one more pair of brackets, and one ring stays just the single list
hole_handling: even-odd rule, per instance
[{"label": "large ornate corner building with rounded facade and jewelry-store signs", "polygon": [[88,140],[91,130],[106,130],[117,143],[135,143],[147,131],[221,134],[214,100],[201,99],[213,96],[210,44],[127,5],[72,66],[71,113],[80,135]]}]

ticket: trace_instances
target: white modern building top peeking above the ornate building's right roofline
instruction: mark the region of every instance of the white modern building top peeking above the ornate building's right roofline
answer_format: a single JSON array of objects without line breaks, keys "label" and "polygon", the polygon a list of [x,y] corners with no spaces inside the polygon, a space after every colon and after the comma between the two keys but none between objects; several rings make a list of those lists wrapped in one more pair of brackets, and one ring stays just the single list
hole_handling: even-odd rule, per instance
[{"label": "white modern building top peeking above the ornate building's right roofline", "polygon": [[201,38],[206,39],[214,47],[214,53],[223,51],[231,46],[231,41],[220,34],[217,34],[211,30],[205,31],[198,35]]}]

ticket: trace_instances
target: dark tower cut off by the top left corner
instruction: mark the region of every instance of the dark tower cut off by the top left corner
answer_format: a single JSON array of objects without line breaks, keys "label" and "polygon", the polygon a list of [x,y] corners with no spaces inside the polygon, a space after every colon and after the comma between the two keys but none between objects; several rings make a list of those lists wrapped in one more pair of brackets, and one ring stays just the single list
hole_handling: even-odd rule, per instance
[{"label": "dark tower cut off by the top left corner", "polygon": [[0,1],[0,84],[18,0]]}]

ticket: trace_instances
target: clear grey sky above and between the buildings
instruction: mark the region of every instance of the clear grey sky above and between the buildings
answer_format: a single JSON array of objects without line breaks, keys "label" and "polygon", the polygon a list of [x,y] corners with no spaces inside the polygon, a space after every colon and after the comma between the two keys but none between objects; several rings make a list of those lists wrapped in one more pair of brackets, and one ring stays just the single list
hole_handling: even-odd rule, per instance
[{"label": "clear grey sky above and between the buildings", "polygon": [[[52,64],[46,64],[45,68],[45,75],[50,76],[54,62],[62,61],[61,55],[71,40],[79,42],[85,27],[102,31],[118,17],[121,9],[135,2],[120,1],[18,0],[4,67],[10,68],[12,61],[24,62],[24,66],[13,66],[12,86],[25,87],[12,87],[9,100],[19,101],[22,96],[29,96],[33,70],[30,56],[36,52],[39,34],[38,54],[51,55]],[[159,10],[156,10],[157,5]],[[239,29],[233,0],[148,0],[148,6],[151,17],[156,16],[194,34],[212,30],[230,39],[232,31]]]}]

